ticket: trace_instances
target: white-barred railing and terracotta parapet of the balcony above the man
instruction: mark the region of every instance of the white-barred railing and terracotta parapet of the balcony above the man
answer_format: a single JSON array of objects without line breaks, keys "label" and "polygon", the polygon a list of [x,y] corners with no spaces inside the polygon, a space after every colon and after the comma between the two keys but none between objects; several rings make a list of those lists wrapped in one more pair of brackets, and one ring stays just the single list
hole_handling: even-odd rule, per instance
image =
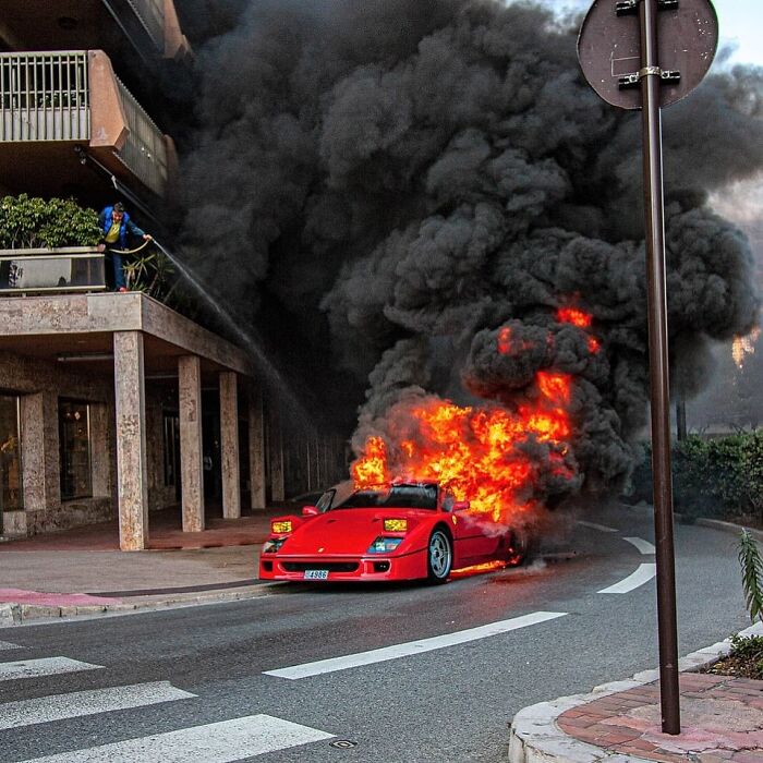
[{"label": "white-barred railing and terracotta parapet of the balcony above the man", "polygon": [[[158,12],[158,3],[143,2]],[[104,142],[104,135],[113,140]],[[94,137],[98,150],[110,149],[108,164],[119,159],[144,185],[165,195],[165,136],[113,74],[105,53],[0,53],[0,142]]]}]

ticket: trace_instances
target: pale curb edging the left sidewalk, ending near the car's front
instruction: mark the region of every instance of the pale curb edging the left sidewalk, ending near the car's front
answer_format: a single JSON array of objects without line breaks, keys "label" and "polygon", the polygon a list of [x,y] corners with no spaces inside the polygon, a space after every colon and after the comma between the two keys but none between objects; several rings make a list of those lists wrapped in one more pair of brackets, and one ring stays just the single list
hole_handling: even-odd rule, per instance
[{"label": "pale curb edging the left sidewalk, ending near the car's front", "polygon": [[72,617],[96,617],[126,615],[157,609],[177,609],[203,604],[225,604],[271,595],[278,583],[264,583],[242,591],[209,592],[196,596],[175,596],[172,598],[150,600],[121,604],[87,604],[76,606],[45,606],[39,604],[0,604],[0,628],[19,626],[29,620],[57,620]]}]

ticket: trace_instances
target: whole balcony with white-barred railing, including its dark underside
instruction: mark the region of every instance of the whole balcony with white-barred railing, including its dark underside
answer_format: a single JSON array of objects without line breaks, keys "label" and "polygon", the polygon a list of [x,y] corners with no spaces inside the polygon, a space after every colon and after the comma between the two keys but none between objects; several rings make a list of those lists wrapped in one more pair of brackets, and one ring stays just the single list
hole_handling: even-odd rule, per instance
[{"label": "whole balcony with white-barred railing, including its dark underside", "polygon": [[[128,186],[166,196],[171,141],[101,50],[0,53],[0,177],[9,187],[82,195],[94,158]],[[140,187],[137,189],[140,191]]]}]

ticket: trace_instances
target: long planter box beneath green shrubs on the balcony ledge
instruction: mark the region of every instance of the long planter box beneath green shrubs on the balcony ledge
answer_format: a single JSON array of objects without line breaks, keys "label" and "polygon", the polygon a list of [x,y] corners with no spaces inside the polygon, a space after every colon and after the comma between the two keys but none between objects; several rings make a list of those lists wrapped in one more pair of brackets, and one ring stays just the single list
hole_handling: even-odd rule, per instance
[{"label": "long planter box beneath green shrubs on the balcony ledge", "polygon": [[95,246],[0,250],[0,294],[106,289],[104,253]]}]

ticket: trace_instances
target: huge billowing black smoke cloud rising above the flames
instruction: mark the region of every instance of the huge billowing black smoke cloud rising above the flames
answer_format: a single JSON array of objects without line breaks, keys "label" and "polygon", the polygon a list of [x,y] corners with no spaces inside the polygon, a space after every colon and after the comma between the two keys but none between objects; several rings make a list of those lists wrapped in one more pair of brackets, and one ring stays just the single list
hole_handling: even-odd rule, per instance
[{"label": "huge billowing black smoke cloud rising above the flames", "polygon": [[[198,61],[183,242],[325,400],[370,379],[355,446],[400,400],[510,409],[556,370],[581,474],[620,484],[647,403],[640,121],[582,81],[574,32],[526,3],[262,0]],[[737,69],[665,112],[687,392],[759,314],[747,241],[706,199],[763,166],[762,94]],[[570,304],[589,331],[558,323]],[[534,349],[498,353],[505,327]]]}]

